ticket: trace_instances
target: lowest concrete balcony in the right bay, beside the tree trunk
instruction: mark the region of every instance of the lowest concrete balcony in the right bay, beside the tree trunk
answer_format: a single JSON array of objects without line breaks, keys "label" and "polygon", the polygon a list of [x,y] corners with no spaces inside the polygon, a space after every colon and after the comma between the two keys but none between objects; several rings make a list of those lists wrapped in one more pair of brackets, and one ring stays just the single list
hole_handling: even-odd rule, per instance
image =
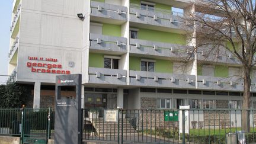
[{"label": "lowest concrete balcony in the right bay, beside the tree trunk", "polygon": [[197,76],[199,89],[223,90],[223,91],[243,91],[244,81],[239,76],[227,78],[214,76]]}]

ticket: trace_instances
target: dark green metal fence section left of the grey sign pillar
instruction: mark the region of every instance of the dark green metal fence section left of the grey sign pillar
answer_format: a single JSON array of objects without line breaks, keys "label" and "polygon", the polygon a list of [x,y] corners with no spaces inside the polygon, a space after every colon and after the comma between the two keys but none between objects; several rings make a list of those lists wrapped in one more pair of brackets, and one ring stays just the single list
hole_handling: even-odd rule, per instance
[{"label": "dark green metal fence section left of the grey sign pillar", "polygon": [[53,136],[51,108],[0,109],[0,135],[21,137],[21,143],[47,143]]}]

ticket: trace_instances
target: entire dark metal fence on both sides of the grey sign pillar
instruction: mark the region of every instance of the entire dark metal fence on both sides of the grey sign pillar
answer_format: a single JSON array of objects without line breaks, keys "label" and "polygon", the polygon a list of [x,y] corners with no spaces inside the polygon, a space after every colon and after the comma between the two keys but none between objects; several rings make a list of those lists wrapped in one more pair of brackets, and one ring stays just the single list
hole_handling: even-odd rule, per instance
[{"label": "entire dark metal fence on both sides of the grey sign pillar", "polygon": [[[242,110],[121,110],[117,121],[104,120],[107,109],[82,109],[83,139],[113,143],[252,143],[256,141],[256,109],[243,132]],[[183,133],[184,132],[184,133]],[[54,111],[0,109],[0,135],[21,137],[21,143],[47,143],[54,135]]]}]

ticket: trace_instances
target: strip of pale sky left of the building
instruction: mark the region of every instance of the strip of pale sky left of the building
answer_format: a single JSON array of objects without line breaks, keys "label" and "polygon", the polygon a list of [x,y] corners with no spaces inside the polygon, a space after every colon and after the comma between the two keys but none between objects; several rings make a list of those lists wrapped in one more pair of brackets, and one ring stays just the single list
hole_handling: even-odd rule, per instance
[{"label": "strip of pale sky left of the building", "polygon": [[[12,0],[0,2],[0,75],[7,75],[9,52],[9,27],[11,25]],[[0,84],[7,81],[7,76],[0,76]]]}]

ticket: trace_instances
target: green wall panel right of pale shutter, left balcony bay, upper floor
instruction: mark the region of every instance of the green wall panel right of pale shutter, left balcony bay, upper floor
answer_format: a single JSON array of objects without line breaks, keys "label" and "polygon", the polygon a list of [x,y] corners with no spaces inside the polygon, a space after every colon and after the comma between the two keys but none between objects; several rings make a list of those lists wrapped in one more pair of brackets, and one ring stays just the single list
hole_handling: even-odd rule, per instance
[{"label": "green wall panel right of pale shutter, left balcony bay, upper floor", "polygon": [[121,25],[103,24],[103,34],[107,36],[121,37]]}]

